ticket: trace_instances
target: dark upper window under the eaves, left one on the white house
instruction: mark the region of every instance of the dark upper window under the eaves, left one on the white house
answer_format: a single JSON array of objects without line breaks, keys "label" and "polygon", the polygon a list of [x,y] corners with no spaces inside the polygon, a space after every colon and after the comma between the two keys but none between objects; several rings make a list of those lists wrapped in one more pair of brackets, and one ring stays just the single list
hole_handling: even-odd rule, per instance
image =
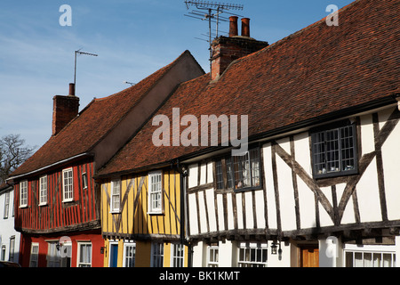
[{"label": "dark upper window under the eaves, left one on the white house", "polygon": [[[215,161],[217,189],[236,191],[261,186],[260,148],[246,151],[243,156],[227,156]],[[226,179],[224,178],[226,177]]]}]

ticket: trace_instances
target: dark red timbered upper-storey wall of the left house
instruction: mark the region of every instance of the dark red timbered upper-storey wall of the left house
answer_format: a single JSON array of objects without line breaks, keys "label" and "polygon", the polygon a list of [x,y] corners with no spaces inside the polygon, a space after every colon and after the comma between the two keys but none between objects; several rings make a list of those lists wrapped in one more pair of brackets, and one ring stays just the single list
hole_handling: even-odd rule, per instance
[{"label": "dark red timbered upper-storey wall of the left house", "polygon": [[[28,179],[28,208],[20,208],[20,183],[14,185],[16,228],[43,231],[100,219],[96,215],[96,209],[99,213],[100,205],[96,204],[92,161],[70,167],[73,167],[74,174],[73,202],[62,201],[62,170],[68,167],[47,174],[47,206],[39,206],[40,176]],[[83,173],[87,174],[87,188],[82,184]]]}]

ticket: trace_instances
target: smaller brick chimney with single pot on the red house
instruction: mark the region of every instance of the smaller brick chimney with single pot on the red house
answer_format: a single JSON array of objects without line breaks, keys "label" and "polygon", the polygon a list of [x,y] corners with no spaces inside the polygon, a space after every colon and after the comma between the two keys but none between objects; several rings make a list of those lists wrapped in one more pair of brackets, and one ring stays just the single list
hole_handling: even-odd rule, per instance
[{"label": "smaller brick chimney with single pot on the red house", "polygon": [[68,96],[55,95],[52,101],[52,135],[56,135],[79,112],[79,98],[75,95],[75,85],[69,84]]}]

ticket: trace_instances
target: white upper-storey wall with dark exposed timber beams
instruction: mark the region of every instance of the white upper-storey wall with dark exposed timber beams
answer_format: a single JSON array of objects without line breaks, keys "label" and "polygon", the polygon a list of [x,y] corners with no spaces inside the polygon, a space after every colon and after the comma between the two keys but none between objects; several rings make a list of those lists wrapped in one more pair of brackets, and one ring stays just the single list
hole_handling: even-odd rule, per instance
[{"label": "white upper-storey wall with dark exposed timber beams", "polygon": [[[223,155],[189,164],[189,239],[195,243],[225,239],[316,240],[318,236],[336,235],[343,240],[360,240],[381,237],[384,229],[389,236],[398,232],[400,217],[390,219],[396,213],[394,208],[388,211],[387,205],[390,195],[396,195],[393,190],[390,194],[386,191],[387,160],[383,157],[388,159],[389,151],[386,149],[383,155],[382,148],[397,126],[390,147],[396,142],[399,119],[399,110],[392,108],[353,117],[356,171],[349,174],[313,175],[314,128],[260,142],[260,189],[219,189],[217,163],[222,169],[226,167]],[[222,176],[227,185],[227,176]],[[368,187],[369,183],[377,187]],[[368,200],[371,196],[379,203]],[[369,217],[367,209],[371,203],[379,208],[380,215],[374,218]]]}]

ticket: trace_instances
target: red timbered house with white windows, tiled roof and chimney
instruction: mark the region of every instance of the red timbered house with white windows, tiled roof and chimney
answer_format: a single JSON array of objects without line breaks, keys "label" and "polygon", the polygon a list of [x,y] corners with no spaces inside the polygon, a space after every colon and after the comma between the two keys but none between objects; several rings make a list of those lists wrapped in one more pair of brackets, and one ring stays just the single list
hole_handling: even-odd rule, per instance
[{"label": "red timbered house with white windows, tiled roof and chimney", "polygon": [[80,112],[74,85],[68,96],[54,96],[51,138],[8,179],[14,185],[15,229],[22,233],[22,266],[103,266],[100,185],[93,176],[176,85],[203,72],[185,52]]}]

